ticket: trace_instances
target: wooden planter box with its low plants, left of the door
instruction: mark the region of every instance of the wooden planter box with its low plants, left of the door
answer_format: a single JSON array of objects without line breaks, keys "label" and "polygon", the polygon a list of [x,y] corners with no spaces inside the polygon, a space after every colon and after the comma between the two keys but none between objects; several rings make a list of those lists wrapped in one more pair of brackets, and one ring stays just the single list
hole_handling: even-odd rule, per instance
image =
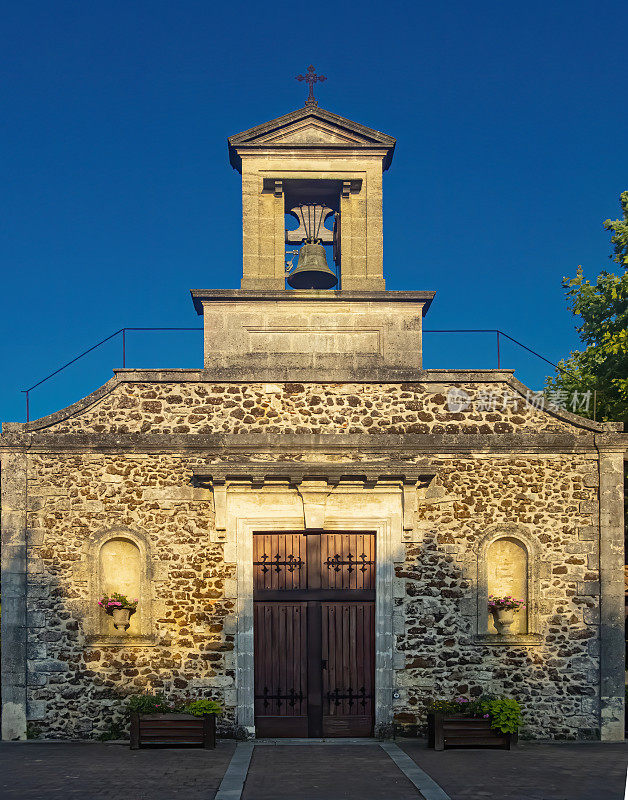
[{"label": "wooden planter box with its low plants, left of the door", "polygon": [[134,695],[131,712],[131,750],[140,747],[216,747],[214,700],[169,703],[163,695]]}]

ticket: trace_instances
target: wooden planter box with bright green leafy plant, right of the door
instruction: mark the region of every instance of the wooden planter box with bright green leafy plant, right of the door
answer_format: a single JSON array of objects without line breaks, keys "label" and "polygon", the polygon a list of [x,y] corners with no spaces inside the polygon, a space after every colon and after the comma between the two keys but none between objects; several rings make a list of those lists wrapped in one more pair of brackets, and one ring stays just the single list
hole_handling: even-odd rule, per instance
[{"label": "wooden planter box with bright green leafy plant, right of the door", "polygon": [[476,700],[457,697],[436,700],[428,713],[428,746],[499,747],[510,750],[517,741],[521,708],[509,697],[485,695]]}]

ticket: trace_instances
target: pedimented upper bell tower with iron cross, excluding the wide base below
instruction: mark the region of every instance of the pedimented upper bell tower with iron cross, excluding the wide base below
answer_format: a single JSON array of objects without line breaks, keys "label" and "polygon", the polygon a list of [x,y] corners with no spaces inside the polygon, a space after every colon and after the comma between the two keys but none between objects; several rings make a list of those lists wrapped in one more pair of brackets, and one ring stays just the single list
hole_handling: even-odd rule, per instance
[{"label": "pedimented upper bell tower with iron cross, excluding the wide base below", "polygon": [[[312,86],[321,77],[313,67],[300,76],[310,85],[303,108],[228,140],[231,164],[242,175],[242,289],[284,289],[286,246],[302,243],[333,245],[339,288],[385,288],[382,174],[395,140],[318,108]],[[286,229],[286,214],[298,220],[297,230]],[[304,256],[312,260],[313,253]]]}]

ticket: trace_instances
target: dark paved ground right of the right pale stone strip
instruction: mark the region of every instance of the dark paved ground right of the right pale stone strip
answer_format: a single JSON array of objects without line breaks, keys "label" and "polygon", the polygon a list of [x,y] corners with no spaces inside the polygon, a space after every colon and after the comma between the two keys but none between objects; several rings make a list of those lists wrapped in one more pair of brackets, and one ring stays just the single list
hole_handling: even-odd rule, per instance
[{"label": "dark paved ground right of the right pale stone strip", "polygon": [[628,742],[520,742],[444,750],[397,740],[451,800],[624,800]]}]

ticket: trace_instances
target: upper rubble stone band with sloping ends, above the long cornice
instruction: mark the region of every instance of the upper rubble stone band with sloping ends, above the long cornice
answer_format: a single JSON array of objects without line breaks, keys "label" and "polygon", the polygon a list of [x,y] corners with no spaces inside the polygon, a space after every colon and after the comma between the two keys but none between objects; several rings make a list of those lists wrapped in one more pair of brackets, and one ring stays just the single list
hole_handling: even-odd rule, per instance
[{"label": "upper rubble stone band with sloping ends, above the long cornice", "polygon": [[[51,433],[490,434],[580,428],[526,402],[506,382],[467,383],[452,413],[444,385],[121,383]],[[491,398],[495,398],[494,408]]]}]

